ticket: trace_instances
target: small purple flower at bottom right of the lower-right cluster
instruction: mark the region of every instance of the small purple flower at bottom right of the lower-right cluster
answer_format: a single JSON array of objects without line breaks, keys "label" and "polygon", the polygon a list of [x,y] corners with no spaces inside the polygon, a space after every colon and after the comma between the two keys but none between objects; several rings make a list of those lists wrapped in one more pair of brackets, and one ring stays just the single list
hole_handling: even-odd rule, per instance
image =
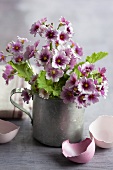
[{"label": "small purple flower at bottom right of the lower-right cluster", "polygon": [[93,103],[93,104],[95,104],[95,103],[97,103],[97,102],[99,102],[99,99],[98,99],[98,97],[99,97],[100,95],[99,95],[99,93],[92,93],[92,94],[89,94],[88,95],[88,103],[89,103],[89,105],[91,104],[91,103]]}]

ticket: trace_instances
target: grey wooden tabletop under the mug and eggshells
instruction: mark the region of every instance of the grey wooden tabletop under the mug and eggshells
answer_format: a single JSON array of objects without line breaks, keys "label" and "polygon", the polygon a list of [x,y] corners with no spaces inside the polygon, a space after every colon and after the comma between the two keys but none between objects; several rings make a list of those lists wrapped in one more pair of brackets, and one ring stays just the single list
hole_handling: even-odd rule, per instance
[{"label": "grey wooden tabletop under the mug and eggshells", "polygon": [[[17,136],[0,145],[0,170],[112,170],[113,149],[96,148],[93,159],[87,164],[67,160],[61,148],[47,147],[32,137],[29,119],[10,120],[20,126]],[[89,121],[88,121],[89,122]],[[84,137],[88,128],[84,124]]]}]

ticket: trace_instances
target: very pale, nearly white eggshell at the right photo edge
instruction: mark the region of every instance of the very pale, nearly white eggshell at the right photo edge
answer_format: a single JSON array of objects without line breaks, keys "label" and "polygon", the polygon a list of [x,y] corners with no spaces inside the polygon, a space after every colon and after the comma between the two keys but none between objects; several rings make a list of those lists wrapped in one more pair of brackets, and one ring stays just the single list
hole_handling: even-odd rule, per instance
[{"label": "very pale, nearly white eggshell at the right photo edge", "polygon": [[97,146],[101,148],[113,147],[113,116],[99,116],[90,124],[89,133]]}]

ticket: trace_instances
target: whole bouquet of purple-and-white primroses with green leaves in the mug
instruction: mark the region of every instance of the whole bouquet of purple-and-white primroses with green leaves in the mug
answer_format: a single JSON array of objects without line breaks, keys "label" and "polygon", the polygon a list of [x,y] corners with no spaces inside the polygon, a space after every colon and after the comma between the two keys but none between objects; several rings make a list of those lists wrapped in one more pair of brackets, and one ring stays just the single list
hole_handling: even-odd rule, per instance
[{"label": "whole bouquet of purple-and-white primroses with green leaves in the mug", "polygon": [[[66,104],[75,103],[78,108],[98,102],[100,96],[106,97],[106,69],[95,68],[95,62],[104,58],[106,52],[93,53],[80,62],[83,50],[73,41],[72,24],[64,17],[56,28],[53,23],[47,23],[47,18],[38,20],[30,33],[36,38],[34,44],[18,36],[16,41],[8,43],[7,55],[0,52],[0,62],[6,63],[3,71],[6,84],[15,75],[30,84],[30,89],[25,87],[22,91],[26,103],[35,93],[44,99],[60,98]],[[45,40],[42,47],[41,38]]]}]

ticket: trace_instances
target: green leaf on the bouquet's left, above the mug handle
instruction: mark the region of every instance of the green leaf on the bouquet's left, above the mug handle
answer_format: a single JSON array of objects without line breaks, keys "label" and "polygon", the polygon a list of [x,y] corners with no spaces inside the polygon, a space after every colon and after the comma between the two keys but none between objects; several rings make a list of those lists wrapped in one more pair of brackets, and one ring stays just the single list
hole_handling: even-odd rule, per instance
[{"label": "green leaf on the bouquet's left, above the mug handle", "polygon": [[33,76],[33,71],[29,67],[27,62],[15,64],[12,61],[10,61],[9,64],[17,71],[18,76],[21,78],[25,78],[26,81],[29,81]]}]

